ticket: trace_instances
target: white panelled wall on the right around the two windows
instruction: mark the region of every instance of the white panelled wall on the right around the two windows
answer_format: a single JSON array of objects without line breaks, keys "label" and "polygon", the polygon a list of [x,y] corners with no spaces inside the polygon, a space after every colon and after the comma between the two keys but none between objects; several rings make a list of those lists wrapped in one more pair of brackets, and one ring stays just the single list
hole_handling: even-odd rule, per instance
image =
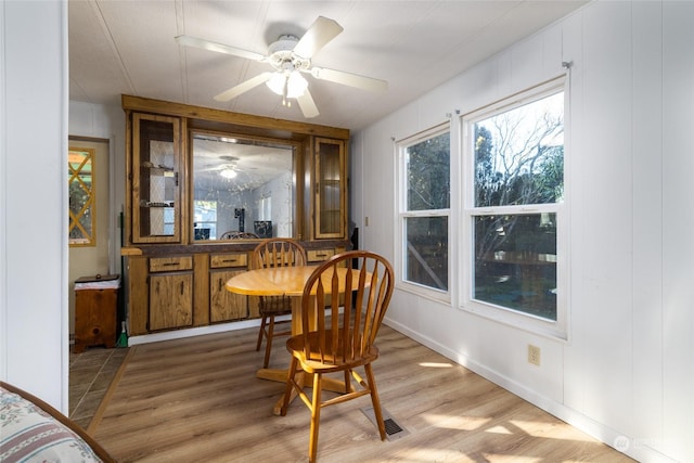
[{"label": "white panelled wall on the right around the two windows", "polygon": [[[394,259],[393,139],[548,80],[573,62],[569,340],[459,309],[457,252],[452,304],[397,291],[387,323],[641,461],[694,461],[692,24],[694,2],[591,3],[351,142],[361,247]],[[454,133],[452,145],[458,158]],[[452,205],[458,236],[460,198]],[[541,347],[540,368],[527,363],[528,344]]]}]

